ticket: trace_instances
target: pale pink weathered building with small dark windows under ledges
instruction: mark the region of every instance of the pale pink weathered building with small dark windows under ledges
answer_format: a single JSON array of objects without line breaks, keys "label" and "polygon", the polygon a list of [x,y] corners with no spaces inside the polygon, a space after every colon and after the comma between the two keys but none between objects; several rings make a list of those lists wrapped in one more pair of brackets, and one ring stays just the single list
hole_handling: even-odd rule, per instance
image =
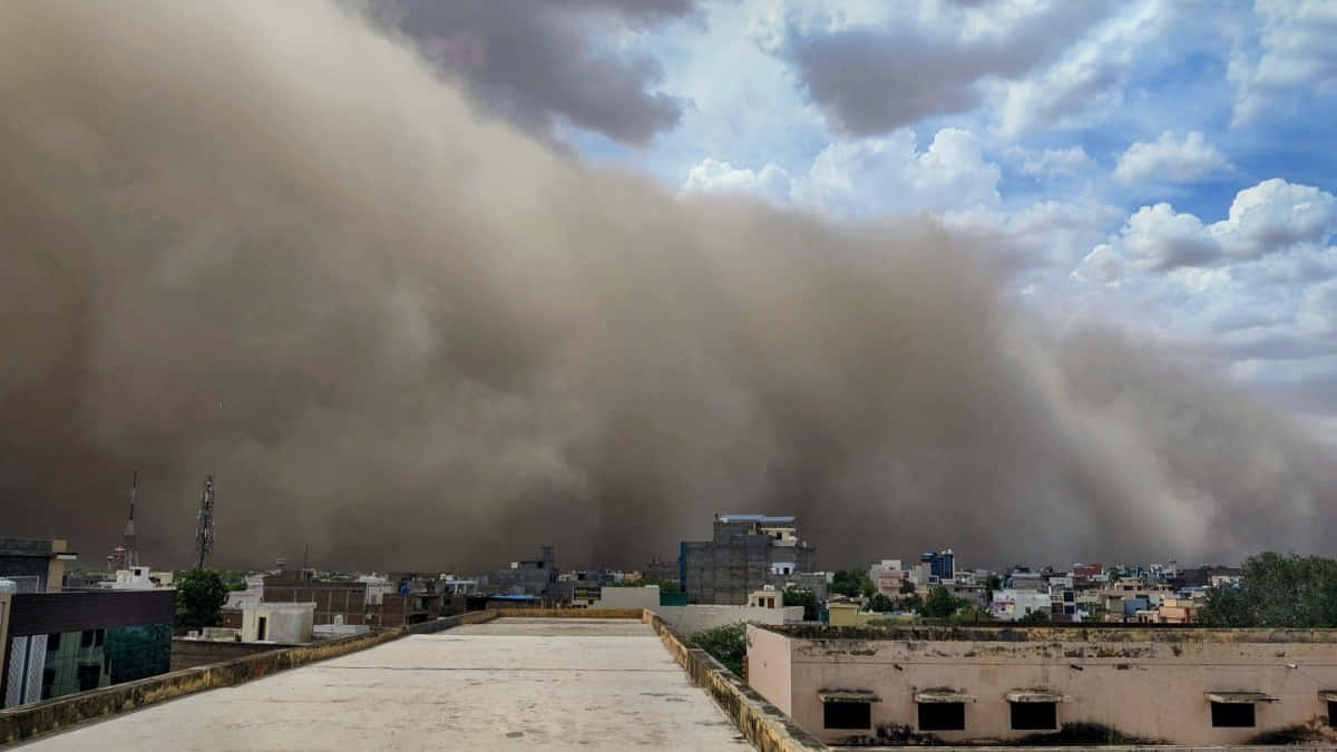
[{"label": "pale pink weathered building with small dark windows under ledges", "polygon": [[749,684],[828,743],[1337,739],[1337,630],[749,626],[747,645]]}]

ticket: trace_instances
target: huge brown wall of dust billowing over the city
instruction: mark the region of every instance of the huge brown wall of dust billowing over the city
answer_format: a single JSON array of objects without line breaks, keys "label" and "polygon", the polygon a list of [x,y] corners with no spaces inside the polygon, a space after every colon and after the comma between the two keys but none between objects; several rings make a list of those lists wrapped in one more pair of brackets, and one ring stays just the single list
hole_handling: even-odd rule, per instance
[{"label": "huge brown wall of dust billowing over the city", "polygon": [[[96,561],[638,566],[717,511],[820,562],[1322,550],[1337,470],[1234,391],[1051,337],[987,248],[678,201],[312,1],[0,5],[0,499]],[[151,559],[151,561],[150,561]]]}]

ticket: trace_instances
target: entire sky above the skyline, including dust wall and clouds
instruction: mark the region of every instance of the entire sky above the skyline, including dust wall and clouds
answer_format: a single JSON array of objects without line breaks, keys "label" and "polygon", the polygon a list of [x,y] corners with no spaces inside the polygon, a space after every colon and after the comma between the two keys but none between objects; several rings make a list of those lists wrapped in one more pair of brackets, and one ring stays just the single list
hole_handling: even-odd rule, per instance
[{"label": "entire sky above the skyline, including dust wall and clouds", "polygon": [[0,498],[102,551],[138,470],[164,567],[206,474],[219,566],[1330,555],[1334,23],[0,4]]}]

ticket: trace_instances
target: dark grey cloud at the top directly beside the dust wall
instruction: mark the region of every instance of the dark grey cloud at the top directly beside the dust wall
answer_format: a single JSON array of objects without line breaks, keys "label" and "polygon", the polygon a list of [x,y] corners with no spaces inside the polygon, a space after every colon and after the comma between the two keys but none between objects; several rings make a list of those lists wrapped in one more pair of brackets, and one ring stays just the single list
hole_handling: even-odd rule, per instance
[{"label": "dark grey cloud at the top directly beside the dust wall", "polygon": [[554,118],[644,143],[678,124],[682,100],[654,91],[652,56],[618,35],[690,15],[694,0],[373,0],[373,17],[416,40],[493,111],[547,132]]}]

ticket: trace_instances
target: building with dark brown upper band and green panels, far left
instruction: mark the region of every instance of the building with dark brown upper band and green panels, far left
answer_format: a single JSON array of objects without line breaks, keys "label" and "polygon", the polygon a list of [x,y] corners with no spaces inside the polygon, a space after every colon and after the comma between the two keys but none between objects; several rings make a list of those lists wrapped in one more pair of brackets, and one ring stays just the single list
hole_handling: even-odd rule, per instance
[{"label": "building with dark brown upper band and green panels, far left", "polygon": [[176,593],[13,593],[0,581],[3,707],[164,673],[171,666]]}]

